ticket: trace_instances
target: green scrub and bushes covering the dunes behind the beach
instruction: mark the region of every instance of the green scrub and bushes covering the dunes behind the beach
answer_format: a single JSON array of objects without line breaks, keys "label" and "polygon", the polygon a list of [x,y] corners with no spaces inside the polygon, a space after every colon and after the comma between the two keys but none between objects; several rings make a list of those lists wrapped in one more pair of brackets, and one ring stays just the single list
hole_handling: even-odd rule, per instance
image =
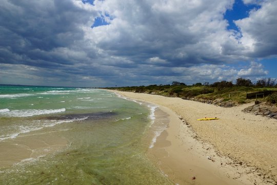
[{"label": "green scrub and bushes covering the dunes behind the beach", "polygon": [[[196,83],[186,85],[185,83],[172,82],[171,85],[149,85],[132,87],[110,87],[107,89],[132,91],[135,93],[147,93],[162,95],[167,97],[180,97],[183,99],[204,99],[222,101],[234,101],[239,104],[259,99],[259,101],[268,101],[277,103],[277,85],[275,80],[270,78],[261,79],[253,84],[249,79],[236,79],[236,84],[227,81],[209,83]],[[258,93],[259,92],[259,93]]]}]

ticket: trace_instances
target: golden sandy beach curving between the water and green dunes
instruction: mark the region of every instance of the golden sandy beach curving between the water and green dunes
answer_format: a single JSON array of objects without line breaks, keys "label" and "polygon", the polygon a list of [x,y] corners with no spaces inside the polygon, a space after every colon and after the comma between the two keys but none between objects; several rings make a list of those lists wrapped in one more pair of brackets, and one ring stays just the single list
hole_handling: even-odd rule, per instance
[{"label": "golden sandy beach curving between the water and green dunes", "polygon": [[[159,106],[169,123],[148,150],[175,184],[276,184],[277,121],[231,108],[116,91]],[[162,114],[160,113],[160,114]],[[219,120],[197,121],[205,117]]]}]

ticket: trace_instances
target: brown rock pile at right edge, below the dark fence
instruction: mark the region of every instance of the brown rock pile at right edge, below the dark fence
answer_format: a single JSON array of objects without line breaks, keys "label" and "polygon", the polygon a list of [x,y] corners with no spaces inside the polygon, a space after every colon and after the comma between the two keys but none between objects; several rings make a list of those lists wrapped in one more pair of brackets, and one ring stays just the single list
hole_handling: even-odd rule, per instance
[{"label": "brown rock pile at right edge, below the dark fence", "polygon": [[262,115],[277,119],[277,107],[273,105],[266,105],[264,103],[255,104],[243,109],[242,111],[245,113],[252,113],[254,115]]}]

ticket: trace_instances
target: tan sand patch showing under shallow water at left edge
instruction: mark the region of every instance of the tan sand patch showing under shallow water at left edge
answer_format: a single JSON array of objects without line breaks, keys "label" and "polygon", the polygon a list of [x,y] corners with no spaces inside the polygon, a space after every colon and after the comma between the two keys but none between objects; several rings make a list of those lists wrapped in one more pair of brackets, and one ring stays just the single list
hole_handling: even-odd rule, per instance
[{"label": "tan sand patch showing under shallow water at left edge", "polygon": [[31,134],[21,134],[14,139],[4,140],[0,143],[0,169],[33,160],[47,154],[61,151],[68,141],[51,128],[34,131]]}]

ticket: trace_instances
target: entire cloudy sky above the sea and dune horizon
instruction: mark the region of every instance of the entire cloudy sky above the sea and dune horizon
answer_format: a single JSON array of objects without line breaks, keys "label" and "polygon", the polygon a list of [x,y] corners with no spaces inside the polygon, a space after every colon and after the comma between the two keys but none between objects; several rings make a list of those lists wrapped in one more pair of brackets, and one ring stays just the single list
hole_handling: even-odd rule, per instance
[{"label": "entire cloudy sky above the sea and dune horizon", "polygon": [[276,0],[2,0],[0,84],[277,79]]}]

